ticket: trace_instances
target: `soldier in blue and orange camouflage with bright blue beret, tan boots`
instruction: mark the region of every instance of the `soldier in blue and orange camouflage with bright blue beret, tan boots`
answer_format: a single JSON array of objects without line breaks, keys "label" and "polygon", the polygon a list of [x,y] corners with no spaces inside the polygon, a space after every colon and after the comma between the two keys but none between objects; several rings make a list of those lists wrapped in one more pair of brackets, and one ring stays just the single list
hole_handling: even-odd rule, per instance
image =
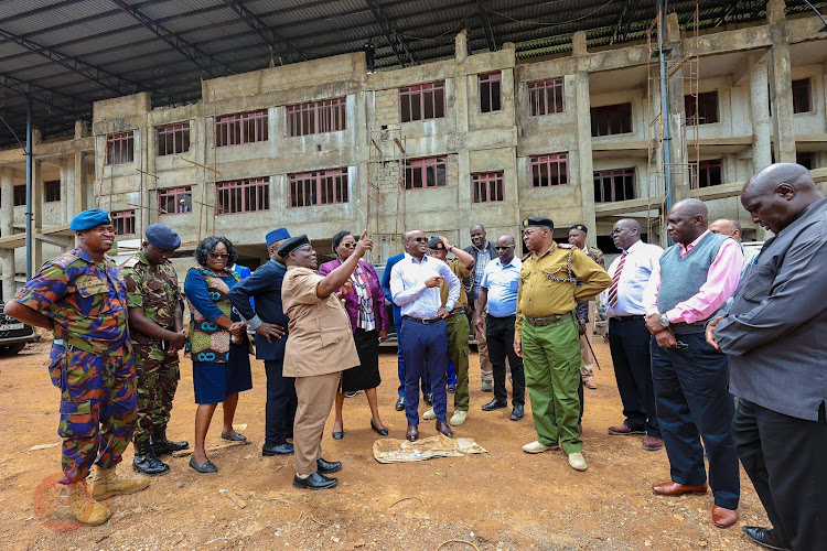
[{"label": "soldier in blue and orange camouflage with bright blue beret, tan boots", "polygon": [[[115,467],[135,430],[132,348],[126,284],[106,252],[115,242],[109,213],[85,210],[69,226],[79,246],[46,262],[4,313],[54,332],[49,370],[61,389],[63,472],[58,512],[86,525],[111,515],[96,501],[132,494],[149,480],[121,478]],[[86,476],[96,465],[92,493]]]}]

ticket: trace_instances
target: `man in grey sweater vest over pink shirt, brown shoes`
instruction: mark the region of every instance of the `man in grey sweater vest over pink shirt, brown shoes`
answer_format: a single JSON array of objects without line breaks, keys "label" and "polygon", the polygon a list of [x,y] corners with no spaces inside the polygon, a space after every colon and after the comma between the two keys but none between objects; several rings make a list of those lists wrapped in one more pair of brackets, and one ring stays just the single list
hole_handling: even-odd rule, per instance
[{"label": "man in grey sweater vest over pink shirt, brown shoes", "polygon": [[[715,496],[712,521],[728,528],[738,520],[740,480],[730,424],[729,363],[707,344],[707,320],[738,287],[743,252],[734,239],[708,229],[706,205],[676,203],[666,230],[676,242],[660,257],[644,294],[651,341],[657,420],[672,467],[672,480],[656,494],[706,494],[704,450]],[[701,445],[701,439],[704,441]]]}]

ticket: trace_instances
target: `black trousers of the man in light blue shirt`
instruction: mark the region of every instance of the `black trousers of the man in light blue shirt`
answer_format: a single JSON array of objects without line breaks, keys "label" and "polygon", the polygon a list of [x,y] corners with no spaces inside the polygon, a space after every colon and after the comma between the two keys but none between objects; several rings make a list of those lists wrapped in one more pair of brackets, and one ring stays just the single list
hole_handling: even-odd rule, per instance
[{"label": "black trousers of the man in light blue shirt", "polygon": [[523,369],[523,358],[514,352],[514,323],[516,315],[485,317],[485,338],[488,342],[488,359],[494,371],[494,398],[500,402],[508,402],[508,391],[505,389],[505,358],[512,366],[512,403],[526,404],[526,375]]}]

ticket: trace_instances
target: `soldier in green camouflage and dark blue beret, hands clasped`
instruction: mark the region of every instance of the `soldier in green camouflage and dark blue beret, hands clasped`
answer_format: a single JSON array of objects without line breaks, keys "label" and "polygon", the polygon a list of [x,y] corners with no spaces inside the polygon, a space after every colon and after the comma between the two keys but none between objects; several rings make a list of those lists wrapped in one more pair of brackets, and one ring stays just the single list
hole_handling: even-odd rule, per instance
[{"label": "soldier in green camouflage and dark blue beret, hands clasped", "polygon": [[167,440],[172,400],[181,378],[178,352],[186,344],[181,290],[170,256],[181,238],[167,226],[147,228],[141,250],[121,264],[132,354],[138,374],[138,426],[132,467],[148,475],[170,467],[158,456],[184,450],[187,442]]}]

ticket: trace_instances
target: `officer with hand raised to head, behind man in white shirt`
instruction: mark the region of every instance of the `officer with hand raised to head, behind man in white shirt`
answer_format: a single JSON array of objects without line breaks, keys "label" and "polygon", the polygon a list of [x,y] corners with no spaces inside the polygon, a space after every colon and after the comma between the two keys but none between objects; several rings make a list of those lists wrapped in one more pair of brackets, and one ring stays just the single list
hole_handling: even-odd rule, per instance
[{"label": "officer with hand raised to head, behind man in white shirt", "polygon": [[[457,258],[450,262],[447,260],[449,252],[457,255]],[[428,241],[428,255],[445,262],[460,281],[473,273],[474,257],[459,247],[452,246],[448,242],[448,239],[442,236],[431,237]],[[468,306],[465,287],[460,287],[460,300],[457,301],[457,304],[450,312],[445,310],[448,292],[448,283],[443,281],[440,283],[439,288],[440,300],[442,301],[439,315],[445,320],[445,325],[448,327],[448,359],[451,360],[454,371],[457,372],[457,389],[453,395],[453,415],[451,415],[449,422],[453,426],[459,426],[468,419],[468,356],[470,352],[468,337],[471,333],[471,326],[469,325],[468,316],[465,315],[465,307]],[[433,408],[426,411],[422,414],[422,419],[437,419],[437,413],[433,411]]]}]

